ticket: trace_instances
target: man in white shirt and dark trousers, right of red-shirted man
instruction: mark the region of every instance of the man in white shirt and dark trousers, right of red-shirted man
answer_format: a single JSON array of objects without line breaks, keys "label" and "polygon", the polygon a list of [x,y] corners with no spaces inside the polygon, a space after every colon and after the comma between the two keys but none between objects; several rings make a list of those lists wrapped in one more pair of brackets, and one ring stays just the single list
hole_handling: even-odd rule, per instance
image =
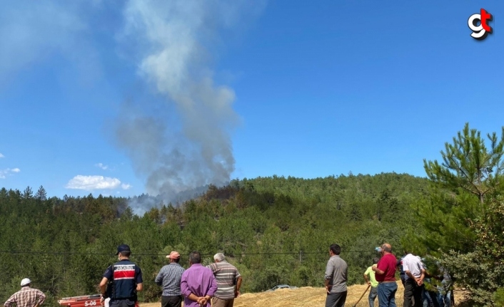
[{"label": "man in white shirt and dark trousers, right of red-shirted man", "polygon": [[404,307],[420,307],[422,303],[425,269],[420,257],[408,253],[403,259],[405,273]]}]

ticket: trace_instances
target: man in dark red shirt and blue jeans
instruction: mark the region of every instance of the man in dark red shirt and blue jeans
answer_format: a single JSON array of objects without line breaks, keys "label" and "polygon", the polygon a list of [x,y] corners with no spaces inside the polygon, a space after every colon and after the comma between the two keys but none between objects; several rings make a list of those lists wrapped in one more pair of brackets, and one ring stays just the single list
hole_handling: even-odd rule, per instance
[{"label": "man in dark red shirt and blue jeans", "polygon": [[382,255],[380,261],[376,266],[373,266],[376,281],[378,281],[378,301],[380,307],[395,307],[395,292],[397,291],[395,264],[397,264],[397,259],[392,254],[392,246],[388,243],[381,246],[380,254]]}]

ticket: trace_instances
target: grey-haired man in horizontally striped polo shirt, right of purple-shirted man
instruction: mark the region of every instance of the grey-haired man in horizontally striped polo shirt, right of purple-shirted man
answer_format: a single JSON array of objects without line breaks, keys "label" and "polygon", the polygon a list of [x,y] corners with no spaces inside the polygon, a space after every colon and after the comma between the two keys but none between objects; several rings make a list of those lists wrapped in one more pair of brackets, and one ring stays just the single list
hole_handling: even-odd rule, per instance
[{"label": "grey-haired man in horizontally striped polo shirt, right of purple-shirted man", "polygon": [[226,261],[224,254],[215,254],[213,260],[215,263],[208,266],[217,281],[212,307],[233,307],[234,299],[240,295],[241,275],[235,266]]}]

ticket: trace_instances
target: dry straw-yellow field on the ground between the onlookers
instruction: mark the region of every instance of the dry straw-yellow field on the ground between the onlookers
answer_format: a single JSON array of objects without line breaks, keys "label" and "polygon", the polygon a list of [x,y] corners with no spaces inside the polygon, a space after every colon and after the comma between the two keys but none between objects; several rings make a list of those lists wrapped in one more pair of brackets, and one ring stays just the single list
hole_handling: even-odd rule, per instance
[{"label": "dry straw-yellow field on the ground between the onlookers", "polygon": [[[356,304],[367,286],[354,285],[348,287],[346,306],[352,307]],[[358,307],[366,307],[368,304],[368,293],[363,296],[357,304]],[[395,303],[398,307],[403,306],[403,285],[398,282],[398,291],[395,294]],[[455,303],[459,305],[463,301],[463,292],[455,291]],[[235,307],[323,307],[326,303],[325,288],[303,287],[295,290],[279,289],[273,292],[244,293],[236,298]],[[378,300],[375,302],[378,306]],[[142,303],[140,307],[161,307],[161,303]]]}]

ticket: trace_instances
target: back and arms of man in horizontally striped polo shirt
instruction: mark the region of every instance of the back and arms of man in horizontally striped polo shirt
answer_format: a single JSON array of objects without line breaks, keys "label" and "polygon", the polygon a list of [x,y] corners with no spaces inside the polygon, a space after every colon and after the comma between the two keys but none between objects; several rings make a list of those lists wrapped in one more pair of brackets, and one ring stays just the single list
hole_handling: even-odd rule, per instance
[{"label": "back and arms of man in horizontally striped polo shirt", "polygon": [[238,269],[225,260],[209,265],[208,269],[211,269],[217,281],[215,297],[224,300],[234,298],[236,280],[241,276]]}]

